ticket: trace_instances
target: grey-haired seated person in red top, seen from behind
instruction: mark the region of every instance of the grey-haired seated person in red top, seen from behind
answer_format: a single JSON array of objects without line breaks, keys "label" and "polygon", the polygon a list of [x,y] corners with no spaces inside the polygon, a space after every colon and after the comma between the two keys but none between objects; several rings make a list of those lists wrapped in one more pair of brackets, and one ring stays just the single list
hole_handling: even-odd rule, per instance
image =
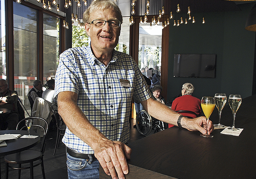
[{"label": "grey-haired seated person in red top, seen from behind", "polygon": [[191,113],[181,113],[182,115],[189,116],[192,118],[200,116],[202,112],[201,100],[192,96],[193,91],[194,91],[194,86],[192,84],[190,83],[183,84],[181,89],[182,96],[174,99],[174,101],[172,102],[172,110],[193,111],[196,113],[196,115]]}]

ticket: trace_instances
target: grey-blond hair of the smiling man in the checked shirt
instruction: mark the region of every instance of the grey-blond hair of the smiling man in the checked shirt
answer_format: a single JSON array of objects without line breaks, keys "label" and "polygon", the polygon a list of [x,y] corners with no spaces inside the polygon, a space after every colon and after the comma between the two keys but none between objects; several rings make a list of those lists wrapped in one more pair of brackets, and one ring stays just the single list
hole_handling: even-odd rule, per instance
[{"label": "grey-blond hair of the smiling man in the checked shirt", "polygon": [[91,22],[91,14],[96,10],[105,10],[111,9],[114,10],[118,16],[118,20],[120,20],[121,24],[123,23],[122,12],[119,7],[115,4],[113,0],[96,0],[93,1],[92,4],[89,6],[83,14],[83,22],[90,23]]}]

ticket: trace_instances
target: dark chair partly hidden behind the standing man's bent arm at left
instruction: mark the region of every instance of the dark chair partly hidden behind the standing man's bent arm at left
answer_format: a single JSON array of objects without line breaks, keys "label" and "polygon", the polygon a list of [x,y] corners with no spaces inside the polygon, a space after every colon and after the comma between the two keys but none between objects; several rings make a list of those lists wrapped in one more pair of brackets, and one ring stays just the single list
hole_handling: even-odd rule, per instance
[{"label": "dark chair partly hidden behind the standing man's bent arm at left", "polygon": [[54,152],[53,152],[53,155],[55,155],[56,149],[58,149],[58,147],[59,147],[60,136],[64,135],[64,133],[62,133],[62,131],[66,130],[66,125],[62,121],[62,119],[58,113],[58,105],[52,104],[51,110],[53,112],[53,115],[54,115],[54,118],[56,121],[56,126],[57,126],[57,138],[56,138],[55,148],[54,148]]}]

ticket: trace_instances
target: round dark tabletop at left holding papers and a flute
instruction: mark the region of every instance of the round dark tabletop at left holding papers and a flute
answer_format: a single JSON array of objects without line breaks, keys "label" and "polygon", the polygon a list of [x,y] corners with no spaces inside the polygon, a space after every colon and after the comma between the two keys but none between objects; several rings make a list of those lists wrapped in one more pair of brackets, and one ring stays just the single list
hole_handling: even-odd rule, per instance
[{"label": "round dark tabletop at left holding papers and a flute", "polygon": [[[1,110],[1,109],[0,109]],[[4,130],[0,131],[0,135],[3,134],[22,134],[22,135],[28,135],[28,131],[20,131],[20,130]],[[30,135],[37,135],[39,136],[35,131],[30,130]],[[3,155],[9,155],[12,153],[18,153],[27,149],[30,149],[31,147],[36,146],[40,142],[40,136],[36,137],[34,139],[32,138],[18,138],[18,139],[10,139],[5,140],[7,146],[0,147],[0,156]],[[1,166],[0,166],[0,177],[1,177]]]}]

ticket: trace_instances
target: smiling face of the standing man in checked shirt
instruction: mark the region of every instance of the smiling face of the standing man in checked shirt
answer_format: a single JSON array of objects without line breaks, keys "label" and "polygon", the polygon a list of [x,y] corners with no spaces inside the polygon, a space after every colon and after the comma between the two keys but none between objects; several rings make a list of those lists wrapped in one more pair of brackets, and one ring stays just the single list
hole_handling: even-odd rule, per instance
[{"label": "smiling face of the standing man in checked shirt", "polygon": [[[95,11],[91,14],[90,22],[93,20],[118,20],[113,10]],[[91,38],[91,46],[94,54],[112,52],[118,44],[121,28],[114,28],[106,22],[103,27],[96,27],[93,24],[86,24],[86,33]]]}]

